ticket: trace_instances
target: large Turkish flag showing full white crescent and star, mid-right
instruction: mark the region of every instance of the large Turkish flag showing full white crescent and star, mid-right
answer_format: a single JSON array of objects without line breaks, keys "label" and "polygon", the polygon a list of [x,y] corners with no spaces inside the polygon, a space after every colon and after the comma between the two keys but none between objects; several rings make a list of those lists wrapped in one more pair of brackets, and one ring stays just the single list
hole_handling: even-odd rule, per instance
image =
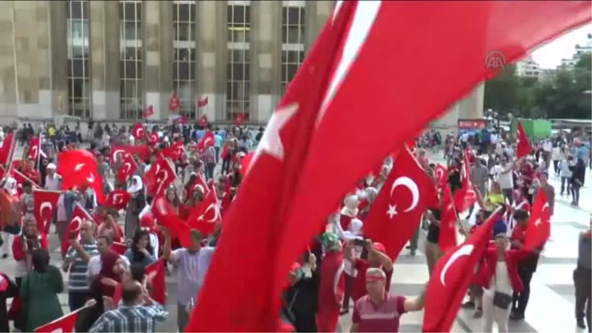
[{"label": "large Turkish flag showing full white crescent and star, mid-right", "polygon": [[364,236],[384,244],[394,261],[419,228],[435,192],[432,179],[413,153],[403,149],[366,216]]}]

